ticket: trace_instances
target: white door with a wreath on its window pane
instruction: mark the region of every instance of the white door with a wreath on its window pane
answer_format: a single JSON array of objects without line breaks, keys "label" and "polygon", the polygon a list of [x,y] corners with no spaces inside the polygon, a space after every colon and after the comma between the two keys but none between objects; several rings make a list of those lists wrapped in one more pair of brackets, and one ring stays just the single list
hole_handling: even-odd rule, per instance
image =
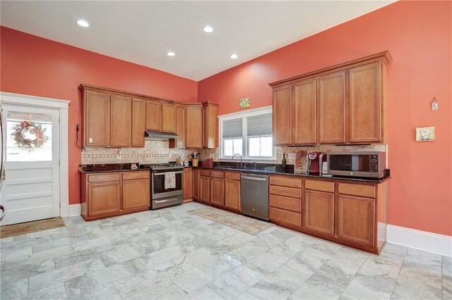
[{"label": "white door with a wreath on its window pane", "polygon": [[1,225],[59,216],[59,110],[6,105]]}]

